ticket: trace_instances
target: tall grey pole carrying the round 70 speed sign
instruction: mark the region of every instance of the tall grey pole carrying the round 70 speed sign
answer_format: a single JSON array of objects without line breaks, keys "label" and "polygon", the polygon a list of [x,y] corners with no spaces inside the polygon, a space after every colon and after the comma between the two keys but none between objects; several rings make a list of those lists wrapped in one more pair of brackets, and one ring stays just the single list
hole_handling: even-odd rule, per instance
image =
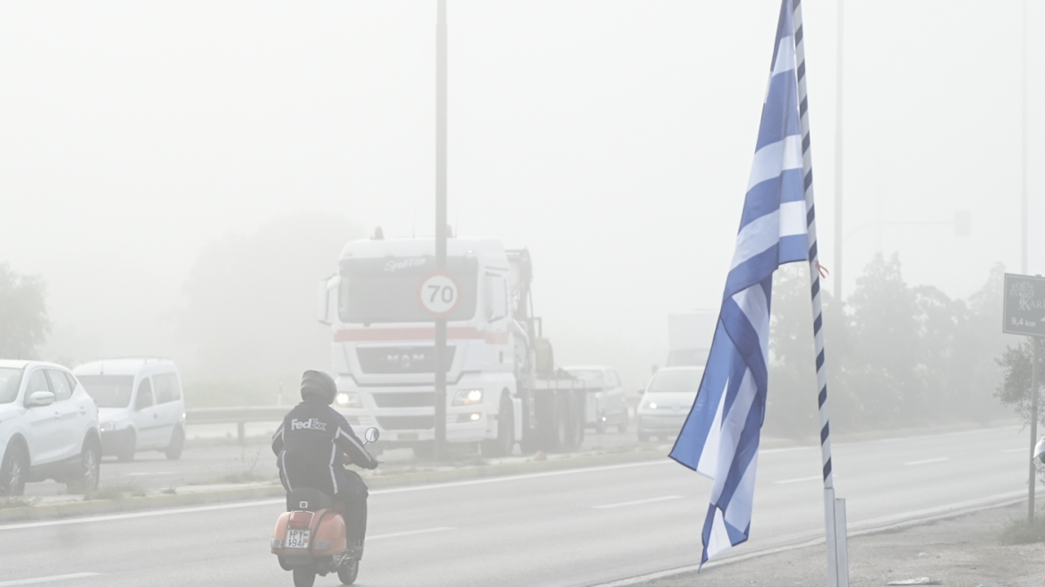
[{"label": "tall grey pole carrying the round 70 speed sign", "polygon": [[[446,271],[446,0],[436,18],[436,271]],[[436,319],[436,439],[433,456],[446,449],[446,316]]]}]

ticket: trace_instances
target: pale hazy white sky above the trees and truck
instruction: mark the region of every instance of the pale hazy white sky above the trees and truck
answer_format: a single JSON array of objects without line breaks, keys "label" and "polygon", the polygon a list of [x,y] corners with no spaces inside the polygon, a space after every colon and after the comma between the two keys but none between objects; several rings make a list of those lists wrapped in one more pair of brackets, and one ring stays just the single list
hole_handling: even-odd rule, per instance
[{"label": "pale hazy white sky above the trees and truck", "polygon": [[[1031,4],[1028,269],[1045,273]],[[215,238],[298,211],[431,234],[435,5],[0,4],[0,260],[46,278],[66,339],[164,352],[155,325]],[[861,230],[849,291],[877,250],[956,297],[995,261],[1019,271],[1021,6],[846,3],[845,232],[958,210],[973,231]],[[836,3],[804,9],[831,268]],[[718,306],[777,10],[449,0],[450,222],[531,249],[559,358],[663,362],[666,315]]]}]

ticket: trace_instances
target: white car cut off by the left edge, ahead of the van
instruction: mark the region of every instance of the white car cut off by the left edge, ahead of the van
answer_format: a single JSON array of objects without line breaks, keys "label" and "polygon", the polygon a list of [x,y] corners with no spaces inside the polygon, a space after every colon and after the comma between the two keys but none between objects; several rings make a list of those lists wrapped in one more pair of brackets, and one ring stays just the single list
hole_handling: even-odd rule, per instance
[{"label": "white car cut off by the left edge, ahead of the van", "polygon": [[84,491],[98,487],[98,408],[68,369],[0,360],[0,493],[52,478]]}]

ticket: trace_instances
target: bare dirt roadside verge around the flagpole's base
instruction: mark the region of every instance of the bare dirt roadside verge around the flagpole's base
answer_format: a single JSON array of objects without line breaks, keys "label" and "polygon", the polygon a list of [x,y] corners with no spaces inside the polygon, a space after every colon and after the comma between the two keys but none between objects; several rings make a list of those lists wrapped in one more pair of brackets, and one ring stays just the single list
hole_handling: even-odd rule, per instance
[{"label": "bare dirt roadside verge around the flagpole's base", "polygon": [[[1002,545],[1002,529],[1026,516],[1026,504],[984,510],[896,532],[851,538],[850,585],[884,586],[929,578],[950,587],[1043,587],[1045,543]],[[1039,514],[1041,516],[1041,514]],[[1039,517],[1045,523],[1045,517]],[[823,545],[652,581],[651,587],[822,586]]]}]

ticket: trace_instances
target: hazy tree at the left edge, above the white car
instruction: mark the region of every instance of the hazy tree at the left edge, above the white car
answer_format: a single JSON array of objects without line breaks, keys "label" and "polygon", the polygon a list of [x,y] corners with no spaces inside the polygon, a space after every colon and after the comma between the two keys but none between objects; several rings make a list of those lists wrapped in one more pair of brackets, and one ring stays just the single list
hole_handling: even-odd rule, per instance
[{"label": "hazy tree at the left edge, above the white car", "polygon": [[47,286],[40,276],[23,276],[0,263],[0,357],[34,358],[47,338]]}]

